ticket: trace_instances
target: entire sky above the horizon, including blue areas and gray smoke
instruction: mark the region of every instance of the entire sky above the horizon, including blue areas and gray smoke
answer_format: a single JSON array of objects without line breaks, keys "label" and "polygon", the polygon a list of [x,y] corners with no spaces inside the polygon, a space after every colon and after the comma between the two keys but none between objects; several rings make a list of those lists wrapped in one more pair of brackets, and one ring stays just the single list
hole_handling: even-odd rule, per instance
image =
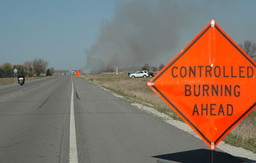
[{"label": "entire sky above the horizon, including blue areas and gray smoke", "polygon": [[56,70],[158,66],[213,19],[237,44],[256,42],[255,7],[252,0],[0,1],[0,65],[42,58]]}]

